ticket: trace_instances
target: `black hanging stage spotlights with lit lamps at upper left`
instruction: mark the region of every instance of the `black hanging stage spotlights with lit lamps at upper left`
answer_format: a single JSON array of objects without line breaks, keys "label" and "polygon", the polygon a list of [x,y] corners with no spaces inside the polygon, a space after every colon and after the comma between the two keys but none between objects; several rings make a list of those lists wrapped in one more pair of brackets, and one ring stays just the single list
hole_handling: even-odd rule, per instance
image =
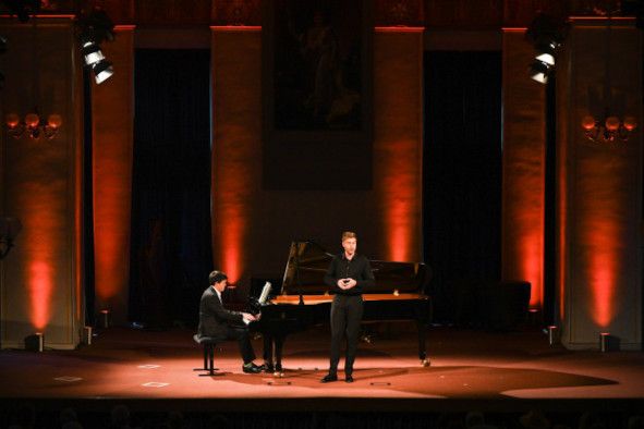
[{"label": "black hanging stage spotlights with lit lamps at upper left", "polygon": [[101,84],[114,73],[112,63],[100,50],[101,42],[114,39],[114,24],[104,10],[94,9],[78,15],[76,25],[85,65],[94,72],[96,83]]}]

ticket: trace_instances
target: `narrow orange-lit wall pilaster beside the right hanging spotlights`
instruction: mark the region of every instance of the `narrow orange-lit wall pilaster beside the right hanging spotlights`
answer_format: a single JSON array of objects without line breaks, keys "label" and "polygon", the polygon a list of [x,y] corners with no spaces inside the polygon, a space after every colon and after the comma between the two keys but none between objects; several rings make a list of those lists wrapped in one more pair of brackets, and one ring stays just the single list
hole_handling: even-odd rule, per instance
[{"label": "narrow orange-lit wall pilaster beside the right hanging spotlights", "polygon": [[544,302],[545,86],[531,79],[534,48],[523,30],[503,33],[503,187],[501,277],[531,283]]}]

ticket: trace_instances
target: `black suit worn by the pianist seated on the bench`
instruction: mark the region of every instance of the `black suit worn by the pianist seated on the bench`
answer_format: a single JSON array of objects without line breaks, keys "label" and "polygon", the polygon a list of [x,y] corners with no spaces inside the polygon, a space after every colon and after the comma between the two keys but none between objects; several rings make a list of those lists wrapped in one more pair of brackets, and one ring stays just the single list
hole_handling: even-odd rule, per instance
[{"label": "black suit worn by the pianist seated on the bench", "polygon": [[197,336],[210,336],[221,341],[238,340],[244,364],[255,360],[255,352],[242,314],[223,308],[214,286],[209,286],[202,295]]}]

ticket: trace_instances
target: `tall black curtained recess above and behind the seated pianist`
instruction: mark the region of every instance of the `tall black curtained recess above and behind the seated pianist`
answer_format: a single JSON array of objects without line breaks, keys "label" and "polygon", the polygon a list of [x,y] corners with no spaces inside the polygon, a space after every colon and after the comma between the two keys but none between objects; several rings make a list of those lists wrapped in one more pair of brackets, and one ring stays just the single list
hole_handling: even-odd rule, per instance
[{"label": "tall black curtained recess above and behind the seated pianist", "polygon": [[135,52],[130,319],[194,324],[212,267],[210,53]]}]

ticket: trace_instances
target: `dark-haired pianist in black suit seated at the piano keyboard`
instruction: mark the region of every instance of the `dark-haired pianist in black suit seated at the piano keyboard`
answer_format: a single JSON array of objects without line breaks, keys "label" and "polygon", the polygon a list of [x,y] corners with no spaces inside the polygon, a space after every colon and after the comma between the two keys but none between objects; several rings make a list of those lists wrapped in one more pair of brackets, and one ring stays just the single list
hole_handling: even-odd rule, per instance
[{"label": "dark-haired pianist in black suit seated at the piano keyboard", "polygon": [[228,275],[221,271],[212,271],[208,277],[210,286],[204,291],[199,304],[199,327],[195,340],[210,336],[220,340],[238,340],[244,359],[242,370],[247,373],[262,372],[264,366],[257,366],[255,352],[248,338],[248,323],[259,320],[260,315],[231,311],[223,308],[221,293],[228,285]]}]

